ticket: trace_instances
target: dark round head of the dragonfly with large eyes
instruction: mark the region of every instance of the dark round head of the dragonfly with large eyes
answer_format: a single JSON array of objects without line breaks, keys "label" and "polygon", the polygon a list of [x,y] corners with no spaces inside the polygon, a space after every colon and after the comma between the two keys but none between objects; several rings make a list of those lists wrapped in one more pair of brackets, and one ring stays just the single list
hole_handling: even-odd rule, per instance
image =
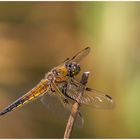
[{"label": "dark round head of the dragonfly with large eyes", "polygon": [[66,64],[66,67],[68,69],[68,76],[70,77],[73,77],[80,72],[80,65],[75,62]]}]

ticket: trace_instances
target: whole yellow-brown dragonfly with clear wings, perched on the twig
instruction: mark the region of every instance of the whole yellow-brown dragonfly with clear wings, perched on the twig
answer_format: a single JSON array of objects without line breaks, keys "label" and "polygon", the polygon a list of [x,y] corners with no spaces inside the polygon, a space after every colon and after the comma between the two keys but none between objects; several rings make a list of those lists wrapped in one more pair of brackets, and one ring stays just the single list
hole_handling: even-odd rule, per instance
[{"label": "whole yellow-brown dragonfly with clear wings, perched on the twig", "polygon": [[[86,47],[71,58],[67,58],[62,64],[54,67],[45,77],[29,92],[18,98],[15,102],[4,108],[0,116],[7,114],[31,101],[39,99],[48,110],[54,114],[68,117],[74,101],[79,95],[78,87],[81,85],[76,80],[76,75],[81,71],[80,62],[90,52]],[[81,105],[89,105],[95,108],[112,108],[114,101],[111,96],[101,91],[85,87],[84,94],[80,98]],[[84,119],[79,110],[76,125],[83,126]]]}]

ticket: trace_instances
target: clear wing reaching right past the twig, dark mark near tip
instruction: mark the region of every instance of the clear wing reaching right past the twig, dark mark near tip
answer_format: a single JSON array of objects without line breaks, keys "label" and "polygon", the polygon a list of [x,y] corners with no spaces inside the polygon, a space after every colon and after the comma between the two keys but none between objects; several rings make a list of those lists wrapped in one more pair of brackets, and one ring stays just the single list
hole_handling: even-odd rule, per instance
[{"label": "clear wing reaching right past the twig, dark mark near tip", "polygon": [[[79,95],[78,85],[80,83],[70,83],[67,87],[67,95],[73,99],[76,99]],[[83,96],[80,99],[81,104],[91,105],[95,108],[109,109],[114,107],[114,101],[112,98],[101,92],[94,89],[86,88]]]}]

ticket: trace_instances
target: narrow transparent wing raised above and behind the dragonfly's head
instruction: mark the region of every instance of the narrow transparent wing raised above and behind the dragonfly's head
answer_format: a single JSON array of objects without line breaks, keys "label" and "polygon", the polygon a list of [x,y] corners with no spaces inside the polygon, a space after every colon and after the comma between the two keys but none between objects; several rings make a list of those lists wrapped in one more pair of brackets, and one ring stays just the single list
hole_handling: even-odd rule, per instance
[{"label": "narrow transparent wing raised above and behind the dragonfly's head", "polygon": [[72,58],[67,58],[65,60],[66,63],[68,62],[80,62],[84,57],[86,57],[90,52],[90,47],[86,47],[85,49],[78,52]]}]

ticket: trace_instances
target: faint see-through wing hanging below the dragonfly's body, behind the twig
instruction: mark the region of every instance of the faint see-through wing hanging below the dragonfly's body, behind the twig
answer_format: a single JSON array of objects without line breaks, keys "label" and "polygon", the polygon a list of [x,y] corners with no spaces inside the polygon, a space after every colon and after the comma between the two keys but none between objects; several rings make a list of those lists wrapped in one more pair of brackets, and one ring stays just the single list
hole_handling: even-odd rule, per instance
[{"label": "faint see-through wing hanging below the dragonfly's body, behind the twig", "polygon": [[[45,107],[51,111],[54,115],[57,115],[64,119],[65,121],[68,120],[70,115],[72,104],[69,102],[68,104],[64,105],[60,102],[59,96],[51,95],[50,93],[46,93],[41,97],[41,102],[45,105]],[[84,120],[80,111],[77,114],[77,118],[75,121],[75,126],[82,128]]]}]

